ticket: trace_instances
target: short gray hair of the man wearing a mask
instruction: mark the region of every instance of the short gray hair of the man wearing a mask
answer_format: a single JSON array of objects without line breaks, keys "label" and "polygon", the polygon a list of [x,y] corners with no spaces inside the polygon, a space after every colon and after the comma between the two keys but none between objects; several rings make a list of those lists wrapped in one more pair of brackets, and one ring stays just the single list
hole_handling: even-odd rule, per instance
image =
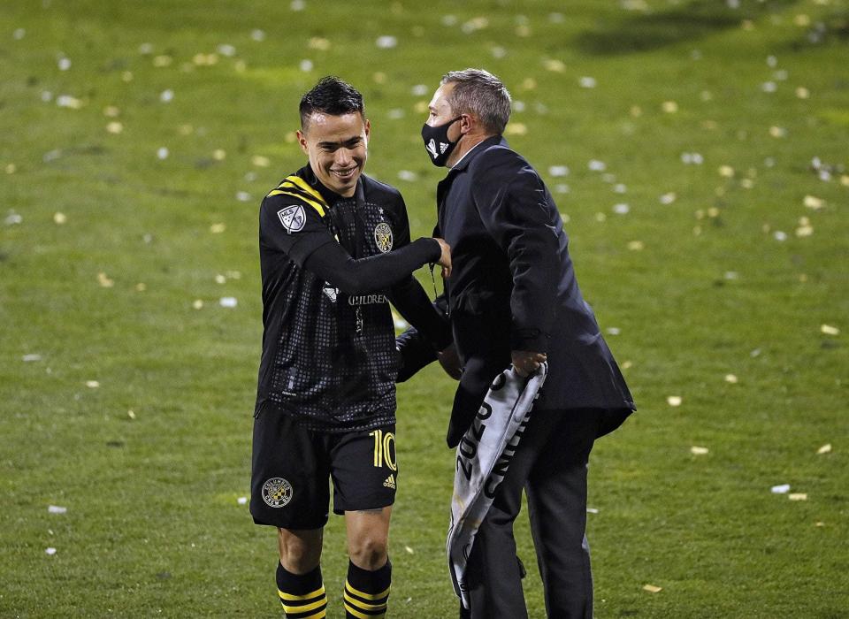
[{"label": "short gray hair of the man wearing a mask", "polygon": [[452,71],[440,84],[454,84],[447,97],[455,115],[474,114],[486,131],[501,135],[510,119],[510,94],[497,77],[483,69]]}]

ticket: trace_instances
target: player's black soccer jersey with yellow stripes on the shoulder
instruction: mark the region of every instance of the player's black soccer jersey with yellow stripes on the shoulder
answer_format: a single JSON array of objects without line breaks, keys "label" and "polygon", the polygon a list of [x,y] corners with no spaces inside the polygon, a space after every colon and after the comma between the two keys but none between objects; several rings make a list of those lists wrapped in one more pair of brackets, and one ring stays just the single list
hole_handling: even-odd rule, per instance
[{"label": "player's black soccer jersey with yellow stripes on the shoulder", "polygon": [[307,165],[264,198],[259,250],[256,410],[275,406],[321,432],[394,423],[398,353],[388,298],[393,289],[409,296],[409,273],[440,256],[436,241],[409,242],[401,195],[362,175],[345,198]]}]

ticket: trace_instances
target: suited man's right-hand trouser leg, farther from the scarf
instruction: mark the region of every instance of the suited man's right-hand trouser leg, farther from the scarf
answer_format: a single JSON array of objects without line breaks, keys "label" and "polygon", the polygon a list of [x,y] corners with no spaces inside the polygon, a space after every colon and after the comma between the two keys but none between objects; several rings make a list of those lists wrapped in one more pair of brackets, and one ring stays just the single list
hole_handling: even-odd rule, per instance
[{"label": "suited man's right-hand trouser leg, farther from the scarf", "polygon": [[591,619],[593,574],[586,542],[586,466],[600,411],[552,413],[560,422],[539,454],[526,492],[548,616]]}]

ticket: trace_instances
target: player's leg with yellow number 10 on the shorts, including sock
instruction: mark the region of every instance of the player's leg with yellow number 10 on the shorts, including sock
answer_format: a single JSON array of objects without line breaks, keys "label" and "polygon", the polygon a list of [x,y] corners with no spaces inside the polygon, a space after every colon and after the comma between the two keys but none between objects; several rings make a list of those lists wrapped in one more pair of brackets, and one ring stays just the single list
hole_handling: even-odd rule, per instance
[{"label": "player's leg with yellow number 10 on the shorts, including sock", "polygon": [[333,511],[345,515],[348,531],[347,617],[386,615],[392,583],[389,518],[398,464],[394,424],[349,432],[332,451]]}]

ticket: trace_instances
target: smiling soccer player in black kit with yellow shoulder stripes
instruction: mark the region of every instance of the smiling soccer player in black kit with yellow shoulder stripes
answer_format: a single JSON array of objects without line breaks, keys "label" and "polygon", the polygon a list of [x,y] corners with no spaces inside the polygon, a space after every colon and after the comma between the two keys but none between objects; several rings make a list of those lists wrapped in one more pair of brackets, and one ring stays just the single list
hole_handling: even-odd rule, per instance
[{"label": "smiling soccer player in black kit with yellow shoulder stripes", "polygon": [[450,329],[410,273],[450,272],[440,239],[409,240],[401,195],[363,174],[371,125],[363,97],[327,77],[301,100],[309,163],[260,207],[263,355],[250,512],[277,527],[279,599],[287,617],[325,616],[320,557],[333,479],[345,516],[348,617],[386,614],[389,518],[398,483],[398,353],[389,302],[436,349]]}]

